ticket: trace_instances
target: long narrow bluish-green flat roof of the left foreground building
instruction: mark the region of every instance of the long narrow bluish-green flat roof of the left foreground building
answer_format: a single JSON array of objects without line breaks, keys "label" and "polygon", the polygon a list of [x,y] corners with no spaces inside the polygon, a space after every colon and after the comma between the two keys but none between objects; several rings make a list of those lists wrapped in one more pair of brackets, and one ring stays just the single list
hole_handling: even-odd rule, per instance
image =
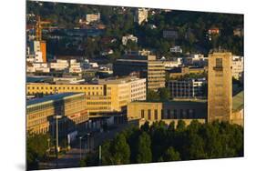
[{"label": "long narrow bluish-green flat roof of the left foreground building", "polygon": [[50,95],[50,96],[44,96],[42,98],[36,98],[26,101],[26,106],[33,106],[36,104],[41,104],[45,102],[50,101],[56,101],[56,100],[62,100],[69,96],[77,96],[77,95],[84,95],[84,93],[62,93],[62,94],[56,94],[56,95]]}]

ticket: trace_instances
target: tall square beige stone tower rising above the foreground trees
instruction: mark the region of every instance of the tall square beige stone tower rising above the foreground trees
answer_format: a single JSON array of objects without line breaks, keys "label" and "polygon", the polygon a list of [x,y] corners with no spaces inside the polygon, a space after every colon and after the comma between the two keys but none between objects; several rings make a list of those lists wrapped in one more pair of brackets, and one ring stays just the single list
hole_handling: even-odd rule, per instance
[{"label": "tall square beige stone tower rising above the foreground trees", "polygon": [[232,55],[214,52],[209,55],[208,122],[230,121],[232,113]]}]

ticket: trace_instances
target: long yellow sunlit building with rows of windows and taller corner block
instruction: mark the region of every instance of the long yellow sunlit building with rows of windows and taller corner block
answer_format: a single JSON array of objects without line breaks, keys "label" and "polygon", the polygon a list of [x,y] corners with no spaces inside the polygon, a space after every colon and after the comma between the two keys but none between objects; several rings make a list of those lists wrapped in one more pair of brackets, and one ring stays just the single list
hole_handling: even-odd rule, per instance
[{"label": "long yellow sunlit building with rows of windows and taller corner block", "polygon": [[121,112],[129,102],[146,99],[146,79],[106,79],[91,85],[27,84],[26,92],[28,95],[82,92],[85,93],[87,111],[90,114]]}]

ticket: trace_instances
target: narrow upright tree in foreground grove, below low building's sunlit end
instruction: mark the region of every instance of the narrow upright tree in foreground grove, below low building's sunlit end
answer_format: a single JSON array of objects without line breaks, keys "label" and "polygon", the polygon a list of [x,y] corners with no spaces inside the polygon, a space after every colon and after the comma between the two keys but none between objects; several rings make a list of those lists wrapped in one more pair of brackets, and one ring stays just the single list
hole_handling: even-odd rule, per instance
[{"label": "narrow upright tree in foreground grove, below low building's sunlit end", "polygon": [[138,163],[149,163],[152,161],[151,139],[148,133],[142,132],[138,137]]}]

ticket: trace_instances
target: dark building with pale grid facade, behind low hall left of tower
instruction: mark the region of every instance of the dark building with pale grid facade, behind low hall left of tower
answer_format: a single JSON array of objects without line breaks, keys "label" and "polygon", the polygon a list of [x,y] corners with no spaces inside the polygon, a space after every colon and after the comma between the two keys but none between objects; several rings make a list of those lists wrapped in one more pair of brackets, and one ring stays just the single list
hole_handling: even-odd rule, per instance
[{"label": "dark building with pale grid facade, behind low hall left of tower", "polygon": [[203,96],[205,79],[169,80],[168,88],[173,98],[198,98]]}]

